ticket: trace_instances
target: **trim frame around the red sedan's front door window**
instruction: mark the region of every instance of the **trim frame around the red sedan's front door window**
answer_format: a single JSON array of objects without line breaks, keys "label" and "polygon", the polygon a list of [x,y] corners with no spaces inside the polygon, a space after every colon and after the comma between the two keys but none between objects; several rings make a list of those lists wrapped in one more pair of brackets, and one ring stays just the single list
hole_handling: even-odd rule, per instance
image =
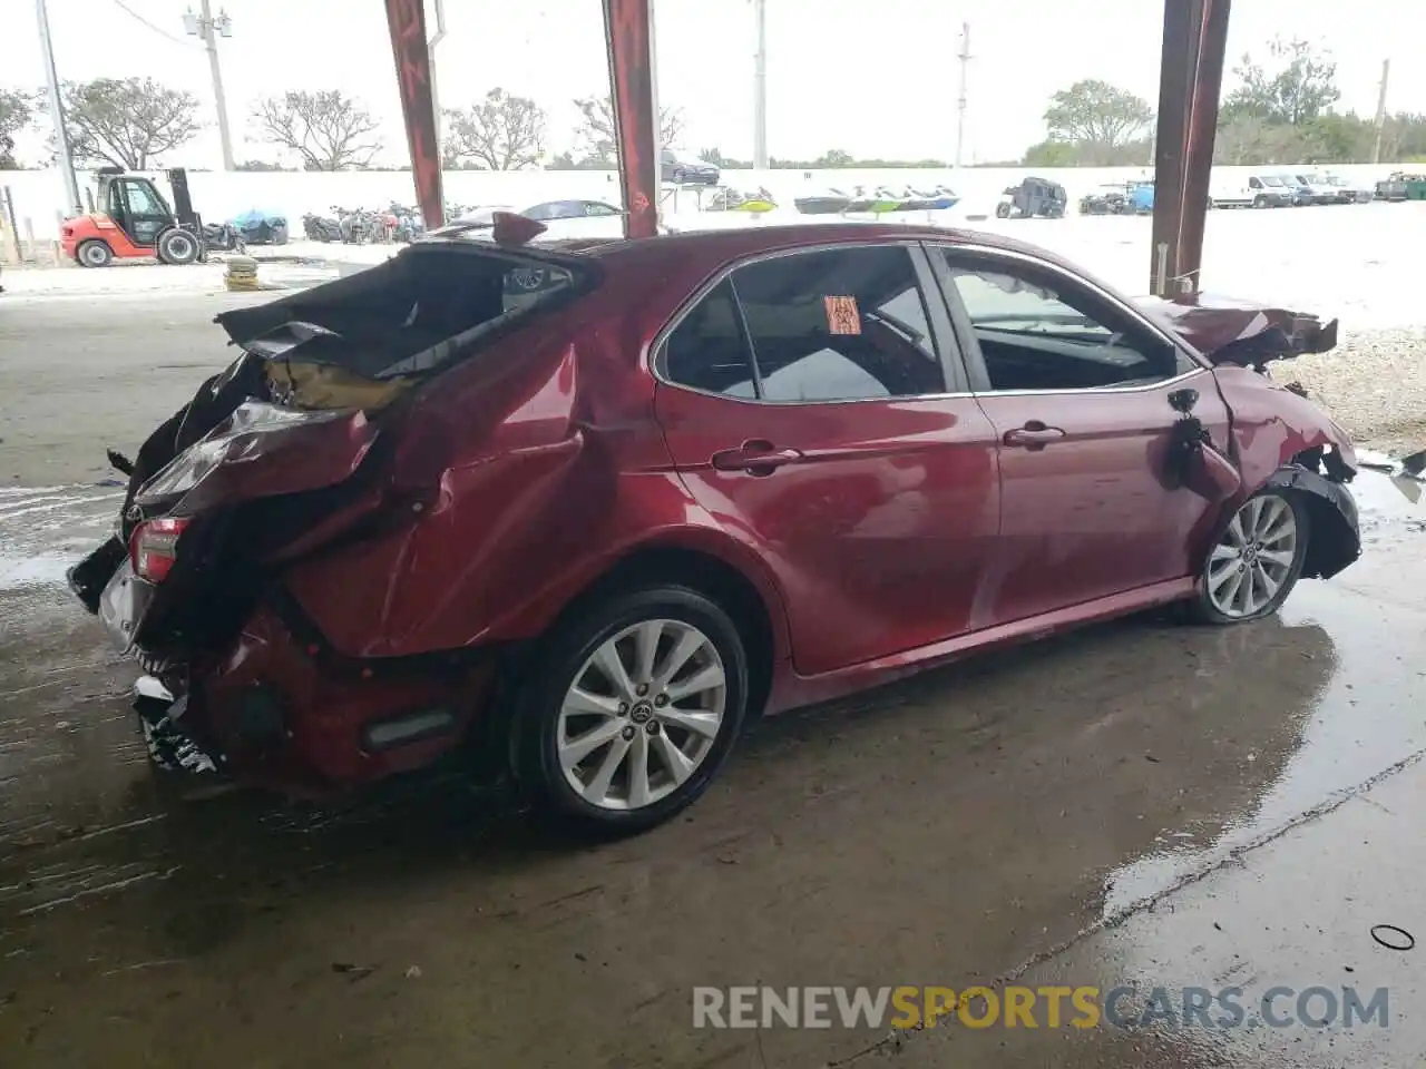
[{"label": "trim frame around the red sedan's front door window", "polygon": [[[1089,278],[1082,278],[1071,271],[1052,264],[1047,259],[1040,259],[1038,257],[1025,255],[1014,249],[994,248],[990,245],[978,244],[960,244],[948,241],[924,241],[927,249],[927,258],[931,262],[931,269],[935,272],[937,281],[940,282],[941,296],[945,301],[951,322],[955,328],[957,341],[960,342],[958,349],[961,352],[961,359],[965,361],[965,373],[971,383],[971,392],[977,396],[994,396],[994,398],[1021,398],[1021,396],[1104,396],[1107,393],[1148,393],[1151,391],[1162,389],[1195,375],[1211,372],[1212,366],[1199,353],[1182,339],[1176,338],[1171,331],[1164,329],[1149,316],[1135,308],[1131,302],[1124,301],[1117,294],[1105,289],[1095,281]],[[980,342],[975,338],[974,325],[971,324],[970,312],[965,311],[965,304],[961,301],[960,289],[955,286],[955,281],[951,278],[950,265],[945,257],[930,255],[931,249],[948,249],[951,254],[963,254],[970,259],[980,259],[994,267],[997,262],[1001,264],[1021,264],[1031,268],[1038,268],[1048,274],[1064,279],[1070,286],[1077,286],[1081,291],[1089,294],[1089,296],[1101,304],[1108,304],[1111,308],[1118,309],[1121,314],[1127,315],[1134,321],[1135,325],[1142,326],[1151,335],[1166,342],[1169,348],[1174,349],[1176,355],[1186,356],[1189,363],[1194,365],[1188,371],[1178,372],[1168,376],[1166,379],[1159,379],[1158,382],[1149,382],[1138,386],[1079,386],[1077,389],[991,389],[990,375],[985,371],[985,358],[981,355]]]}]

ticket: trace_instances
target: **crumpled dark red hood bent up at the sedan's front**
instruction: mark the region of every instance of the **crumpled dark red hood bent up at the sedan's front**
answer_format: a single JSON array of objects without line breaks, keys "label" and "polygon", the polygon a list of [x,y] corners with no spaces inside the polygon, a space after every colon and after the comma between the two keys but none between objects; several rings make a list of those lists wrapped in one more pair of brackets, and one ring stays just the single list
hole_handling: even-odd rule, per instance
[{"label": "crumpled dark red hood bent up at the sedan's front", "polygon": [[1211,294],[1174,299],[1138,296],[1134,304],[1162,326],[1184,338],[1214,363],[1262,368],[1336,348],[1338,321],[1323,322],[1308,312]]}]

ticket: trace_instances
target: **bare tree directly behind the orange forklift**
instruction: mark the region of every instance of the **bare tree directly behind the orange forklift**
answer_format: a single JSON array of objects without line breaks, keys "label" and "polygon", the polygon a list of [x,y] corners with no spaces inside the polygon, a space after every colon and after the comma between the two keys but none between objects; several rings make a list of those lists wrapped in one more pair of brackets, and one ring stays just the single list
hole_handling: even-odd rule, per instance
[{"label": "bare tree directly behind the orange forklift", "polygon": [[78,160],[107,161],[130,171],[193,140],[198,98],[153,78],[94,78],[61,90],[70,151]]}]

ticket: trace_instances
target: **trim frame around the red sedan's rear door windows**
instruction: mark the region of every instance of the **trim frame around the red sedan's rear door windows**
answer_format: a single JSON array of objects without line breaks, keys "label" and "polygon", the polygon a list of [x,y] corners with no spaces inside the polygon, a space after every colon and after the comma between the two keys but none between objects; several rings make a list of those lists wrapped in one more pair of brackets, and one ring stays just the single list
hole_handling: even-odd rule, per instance
[{"label": "trim frame around the red sedan's rear door windows", "polygon": [[[757,366],[757,352],[753,346],[753,339],[747,329],[747,318],[743,312],[743,301],[737,295],[737,284],[733,281],[733,274],[744,267],[753,264],[763,264],[770,259],[783,259],[786,257],[797,257],[810,252],[837,252],[843,249],[864,249],[864,248],[903,248],[911,261],[913,272],[915,274],[915,284],[921,288],[921,304],[925,309],[927,325],[931,328],[931,348],[935,352],[935,359],[941,365],[941,381],[945,383],[947,391],[940,393],[913,393],[900,398],[829,398],[826,401],[770,401],[767,398],[736,398],[729,393],[719,393],[710,389],[699,389],[697,386],[689,386],[683,382],[674,382],[667,375],[666,368],[666,351],[669,338],[674,331],[683,324],[683,321],[693,312],[704,298],[709,296],[719,284],[724,279],[729,284],[729,289],[733,294],[733,304],[737,311],[737,325],[739,334],[743,339],[743,346],[747,351],[747,356],[753,365],[753,376],[759,383],[759,393],[761,393],[761,369]],[[940,291],[937,285],[937,278],[931,271],[931,258],[925,255],[925,249],[921,247],[920,238],[893,238],[891,241],[829,241],[816,245],[797,245],[793,248],[769,249],[766,252],[757,252],[750,257],[744,257],[730,264],[720,267],[713,275],[710,275],[693,295],[689,296],[677,311],[669,318],[669,321],[659,329],[655,335],[653,342],[649,345],[647,366],[649,373],[653,375],[655,382],[660,386],[669,386],[670,389],[682,389],[689,393],[697,393],[704,398],[717,398],[720,401],[729,401],[739,405],[763,405],[769,408],[809,408],[813,405],[867,405],[867,403],[907,403],[913,401],[944,401],[950,398],[970,398],[973,396],[970,391],[970,383],[965,378],[965,368],[963,365],[963,358],[960,353],[960,338],[955,335],[954,329],[947,331],[950,324],[950,316],[944,306],[945,296],[935,299],[935,294]],[[954,349],[954,355],[950,352]],[[958,389],[951,389],[953,386]]]}]

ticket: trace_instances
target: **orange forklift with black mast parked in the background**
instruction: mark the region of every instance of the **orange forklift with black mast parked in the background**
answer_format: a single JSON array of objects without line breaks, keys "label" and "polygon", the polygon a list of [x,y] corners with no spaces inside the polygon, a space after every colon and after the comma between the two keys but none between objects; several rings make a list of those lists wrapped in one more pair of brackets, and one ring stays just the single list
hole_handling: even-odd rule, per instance
[{"label": "orange forklift with black mast parked in the background", "polygon": [[64,255],[80,267],[108,267],[116,259],[157,258],[163,264],[194,264],[207,259],[202,220],[188,197],[188,172],[168,171],[174,207],[141,174],[121,167],[96,172],[98,197],[88,215],[66,220],[60,228]]}]

